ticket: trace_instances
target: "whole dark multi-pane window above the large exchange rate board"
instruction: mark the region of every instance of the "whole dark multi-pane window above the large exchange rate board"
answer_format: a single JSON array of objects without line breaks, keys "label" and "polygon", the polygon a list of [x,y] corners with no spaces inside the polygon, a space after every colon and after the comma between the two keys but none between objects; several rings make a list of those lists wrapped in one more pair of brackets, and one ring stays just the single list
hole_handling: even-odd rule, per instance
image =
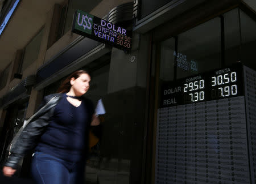
[{"label": "whole dark multi-pane window above the large exchange rate board", "polygon": [[[222,28],[221,19],[224,21]],[[236,8],[180,33],[177,37],[162,41],[160,80],[185,78],[217,69],[222,64],[229,66],[236,62],[255,69],[255,32],[255,20]],[[223,45],[221,41],[224,42]]]}]

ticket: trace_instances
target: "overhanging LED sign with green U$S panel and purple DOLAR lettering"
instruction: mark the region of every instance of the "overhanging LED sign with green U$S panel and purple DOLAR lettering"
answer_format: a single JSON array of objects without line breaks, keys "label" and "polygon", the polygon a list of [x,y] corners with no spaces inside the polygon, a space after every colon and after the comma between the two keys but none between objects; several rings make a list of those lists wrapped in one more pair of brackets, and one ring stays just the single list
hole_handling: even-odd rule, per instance
[{"label": "overhanging LED sign with green U$S panel and purple DOLAR lettering", "polygon": [[131,49],[131,31],[81,10],[75,12],[72,32],[115,48]]}]

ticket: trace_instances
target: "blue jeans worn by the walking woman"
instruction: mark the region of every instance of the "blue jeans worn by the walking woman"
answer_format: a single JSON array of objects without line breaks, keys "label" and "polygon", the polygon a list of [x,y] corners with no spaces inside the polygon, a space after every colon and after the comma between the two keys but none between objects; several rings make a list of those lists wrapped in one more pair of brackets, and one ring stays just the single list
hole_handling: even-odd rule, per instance
[{"label": "blue jeans worn by the walking woman", "polygon": [[84,184],[83,161],[70,163],[42,152],[35,152],[31,164],[31,174],[37,184]]}]

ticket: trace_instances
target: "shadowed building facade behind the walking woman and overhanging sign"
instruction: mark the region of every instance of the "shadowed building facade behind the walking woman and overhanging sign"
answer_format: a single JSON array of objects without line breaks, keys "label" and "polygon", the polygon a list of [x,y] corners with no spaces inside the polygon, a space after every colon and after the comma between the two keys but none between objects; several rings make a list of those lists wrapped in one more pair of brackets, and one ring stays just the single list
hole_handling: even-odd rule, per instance
[{"label": "shadowed building facade behind the walking woman and overhanging sign", "polygon": [[[43,97],[85,69],[86,97],[106,109],[87,183],[255,183],[254,1],[6,0],[0,7],[1,164]],[[131,49],[72,32],[77,9],[132,32]],[[18,175],[28,175],[30,157]]]}]

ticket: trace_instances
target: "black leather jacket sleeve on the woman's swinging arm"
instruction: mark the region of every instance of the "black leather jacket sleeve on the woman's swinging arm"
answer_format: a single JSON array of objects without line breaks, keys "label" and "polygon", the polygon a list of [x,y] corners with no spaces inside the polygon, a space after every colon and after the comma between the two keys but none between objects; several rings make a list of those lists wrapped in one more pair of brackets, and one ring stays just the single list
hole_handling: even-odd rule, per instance
[{"label": "black leather jacket sleeve on the woman's swinging arm", "polygon": [[63,94],[56,93],[44,97],[39,110],[28,119],[25,127],[22,127],[11,142],[10,156],[5,166],[16,169],[19,161],[30,150],[35,148],[40,135],[47,127],[49,118],[52,117],[55,106]]}]

